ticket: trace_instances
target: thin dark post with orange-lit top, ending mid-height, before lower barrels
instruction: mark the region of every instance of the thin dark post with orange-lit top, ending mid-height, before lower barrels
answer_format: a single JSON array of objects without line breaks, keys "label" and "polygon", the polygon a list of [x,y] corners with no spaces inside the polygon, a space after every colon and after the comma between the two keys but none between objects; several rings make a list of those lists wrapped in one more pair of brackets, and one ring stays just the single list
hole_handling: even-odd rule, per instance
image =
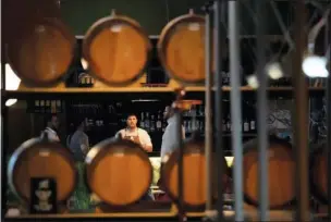
[{"label": "thin dark post with orange-lit top, ending mid-height, before lower barrels", "polygon": [[[182,96],[184,96],[184,91],[180,90],[177,100],[182,99]],[[177,106],[177,104],[176,104]],[[183,165],[184,165],[184,147],[183,147],[183,131],[182,131],[182,113],[180,107],[174,108],[175,111],[175,124],[176,124],[176,136],[177,138],[176,141],[179,141],[179,221],[182,222],[184,221],[185,218],[185,210],[184,210],[184,195],[183,195]]]}]

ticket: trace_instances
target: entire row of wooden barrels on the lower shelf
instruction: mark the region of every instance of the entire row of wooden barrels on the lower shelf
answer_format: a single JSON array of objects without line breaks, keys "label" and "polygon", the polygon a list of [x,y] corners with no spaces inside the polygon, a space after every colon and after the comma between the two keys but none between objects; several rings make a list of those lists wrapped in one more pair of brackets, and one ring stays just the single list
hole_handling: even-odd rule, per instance
[{"label": "entire row of wooden barrels on the lower shelf", "polygon": [[[187,207],[201,207],[206,202],[206,158],[204,141],[189,138],[184,141],[183,198]],[[269,138],[269,201],[270,209],[295,205],[295,160],[292,145],[275,136]],[[311,194],[322,203],[328,202],[323,145],[314,149],[310,158]],[[162,160],[161,187],[176,202],[177,160],[174,151]],[[214,161],[214,160],[213,160]],[[212,163],[214,164],[216,161]],[[234,160],[235,164],[235,160]],[[221,176],[224,187],[231,181],[225,168]],[[235,166],[235,165],[234,165]],[[213,168],[214,169],[214,168]],[[148,192],[152,181],[152,165],[142,147],[130,140],[109,138],[93,147],[85,160],[84,178],[91,194],[109,206],[124,207],[135,203]],[[10,158],[8,177],[10,187],[23,200],[30,202],[30,180],[51,177],[57,183],[57,200],[61,205],[72,195],[77,184],[77,169],[70,149],[50,141],[47,135],[32,138],[21,145]],[[258,149],[257,140],[244,145],[244,196],[247,203],[258,206]],[[213,171],[213,197],[217,197]]]}]

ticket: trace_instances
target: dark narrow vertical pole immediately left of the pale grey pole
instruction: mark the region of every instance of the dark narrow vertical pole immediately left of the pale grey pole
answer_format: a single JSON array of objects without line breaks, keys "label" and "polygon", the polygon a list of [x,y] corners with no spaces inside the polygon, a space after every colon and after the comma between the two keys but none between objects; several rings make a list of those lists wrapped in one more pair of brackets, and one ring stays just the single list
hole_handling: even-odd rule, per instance
[{"label": "dark narrow vertical pole immediately left of the pale grey pole", "polygon": [[222,176],[224,174],[224,166],[223,166],[223,158],[224,158],[224,151],[223,151],[223,127],[222,127],[222,48],[224,38],[223,36],[226,36],[226,33],[223,32],[223,35],[221,34],[222,28],[222,17],[224,17],[224,14],[221,15],[221,13],[224,13],[224,2],[221,2],[221,0],[216,0],[213,4],[213,24],[214,24],[214,37],[213,37],[213,49],[214,49],[214,109],[216,109],[216,115],[214,115],[214,122],[216,122],[216,165],[217,165],[217,190],[218,190],[218,201],[217,201],[217,210],[218,210],[218,221],[223,221],[223,180]]}]

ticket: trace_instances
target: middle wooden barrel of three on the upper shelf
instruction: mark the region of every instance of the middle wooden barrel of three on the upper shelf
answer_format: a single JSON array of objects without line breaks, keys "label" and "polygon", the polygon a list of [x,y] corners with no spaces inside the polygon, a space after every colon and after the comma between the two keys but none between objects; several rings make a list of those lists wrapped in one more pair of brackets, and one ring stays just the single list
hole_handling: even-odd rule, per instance
[{"label": "middle wooden barrel of three on the upper shelf", "polygon": [[111,86],[125,86],[144,75],[150,52],[151,42],[140,25],[114,11],[93,24],[83,41],[89,73]]}]

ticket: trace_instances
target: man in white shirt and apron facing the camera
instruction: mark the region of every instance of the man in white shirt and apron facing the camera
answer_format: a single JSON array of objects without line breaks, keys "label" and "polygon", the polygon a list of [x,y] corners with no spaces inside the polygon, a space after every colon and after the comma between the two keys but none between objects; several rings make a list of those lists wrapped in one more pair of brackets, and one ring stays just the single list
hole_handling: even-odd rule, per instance
[{"label": "man in white shirt and apron facing the camera", "polygon": [[143,147],[147,152],[152,151],[152,144],[148,133],[137,127],[137,116],[135,114],[128,114],[126,119],[126,127],[119,131],[115,137],[121,136],[123,139],[132,140]]}]

